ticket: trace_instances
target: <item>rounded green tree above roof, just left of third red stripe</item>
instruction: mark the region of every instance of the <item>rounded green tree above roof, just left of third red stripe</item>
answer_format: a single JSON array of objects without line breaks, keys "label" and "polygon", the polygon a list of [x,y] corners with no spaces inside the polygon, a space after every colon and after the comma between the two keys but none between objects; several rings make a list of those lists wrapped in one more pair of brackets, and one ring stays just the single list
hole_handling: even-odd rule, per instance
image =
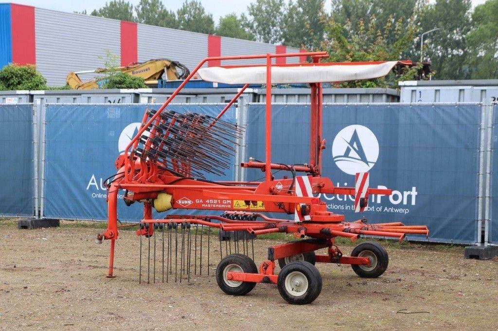
[{"label": "rounded green tree above roof, just left of third red stripe", "polygon": [[191,0],[183,2],[177,10],[179,28],[181,30],[213,34],[215,21],[213,14],[206,13],[200,1]]}]

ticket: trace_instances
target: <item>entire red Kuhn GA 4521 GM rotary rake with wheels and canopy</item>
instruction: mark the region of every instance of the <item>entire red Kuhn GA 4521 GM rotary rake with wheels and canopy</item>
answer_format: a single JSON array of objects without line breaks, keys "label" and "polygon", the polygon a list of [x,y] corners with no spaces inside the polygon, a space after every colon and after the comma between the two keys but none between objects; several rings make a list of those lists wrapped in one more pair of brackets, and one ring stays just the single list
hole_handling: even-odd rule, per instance
[{"label": "entire red Kuhn GA 4521 GM rotary rake with wheels and canopy", "polygon": [[[311,57],[312,63],[272,64],[282,57]],[[377,243],[365,242],[345,256],[335,245],[336,237],[351,241],[360,235],[393,237],[403,240],[405,234],[428,235],[425,226],[397,223],[367,224],[366,219],[346,222],[344,215],[327,211],[319,193],[355,195],[355,211],[363,211],[370,194],[391,194],[389,189],[369,188],[369,174],[357,173],[356,187],[335,187],[329,178],[321,177],[322,151],[322,84],[385,76],[394,62],[320,63],[325,52],[266,54],[254,56],[213,57],[202,61],[189,77],[158,109],[145,111],[142,128],[116,161],[118,172],[108,185],[109,224],[98,235],[99,242],[111,240],[109,277],[113,276],[114,249],[118,239],[118,191],[125,190],[124,203],[143,203],[139,222],[140,281],[142,276],[142,238],[147,240],[147,282],[150,274],[156,281],[157,241],[162,245],[159,279],[190,282],[192,271],[210,272],[211,250],[219,250],[221,262],[216,269],[220,288],[232,295],[244,295],[256,283],[277,284],[281,296],[292,304],[307,304],[320,294],[322,278],[315,262],[351,264],[361,277],[378,277],[387,268],[386,251]],[[266,65],[203,68],[210,60],[266,59]],[[407,64],[407,63],[401,63]],[[244,87],[214,118],[196,113],[180,114],[166,106],[195,75],[206,81],[244,83]],[[242,167],[259,168],[263,181],[211,181],[205,174],[222,174],[230,165],[229,156],[244,134],[243,127],[220,117],[230,108],[250,83],[266,84],[266,154],[265,161],[249,160]],[[309,83],[311,87],[310,159],[305,164],[271,162],[271,84]],[[291,177],[275,178],[273,170],[288,171]],[[296,175],[300,173],[302,175]],[[207,209],[223,211],[213,215],[166,215],[152,217],[170,209]],[[263,212],[293,214],[294,218],[268,218]],[[213,231],[214,229],[214,231]],[[215,235],[219,240],[212,239]],[[254,263],[253,238],[267,233],[294,234],[299,240],[268,248],[268,260],[259,268]],[[157,235],[159,239],[156,240]],[[305,239],[305,237],[309,237]],[[204,240],[204,242],[203,242]],[[153,250],[151,251],[151,241]],[[224,241],[224,244],[222,243]],[[216,244],[216,248],[210,248]],[[204,247],[204,256],[203,256]],[[327,253],[315,254],[326,248]],[[206,253],[207,249],[207,253]],[[153,256],[151,270],[151,255]],[[174,260],[174,263],[173,263]],[[275,274],[275,261],[281,270]],[[166,265],[165,263],[166,262]],[[174,274],[174,276],[173,276]]]}]

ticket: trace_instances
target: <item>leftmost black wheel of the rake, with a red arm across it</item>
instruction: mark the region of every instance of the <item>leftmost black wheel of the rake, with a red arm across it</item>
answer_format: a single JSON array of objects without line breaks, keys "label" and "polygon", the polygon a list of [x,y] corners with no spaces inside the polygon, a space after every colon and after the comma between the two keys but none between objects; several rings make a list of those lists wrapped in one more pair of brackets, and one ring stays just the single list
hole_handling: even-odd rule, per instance
[{"label": "leftmost black wheel of the rake, with a red arm across it", "polygon": [[256,286],[256,283],[228,280],[226,274],[229,271],[257,273],[256,264],[249,256],[231,254],[222,259],[216,268],[216,282],[223,292],[230,295],[246,295]]}]

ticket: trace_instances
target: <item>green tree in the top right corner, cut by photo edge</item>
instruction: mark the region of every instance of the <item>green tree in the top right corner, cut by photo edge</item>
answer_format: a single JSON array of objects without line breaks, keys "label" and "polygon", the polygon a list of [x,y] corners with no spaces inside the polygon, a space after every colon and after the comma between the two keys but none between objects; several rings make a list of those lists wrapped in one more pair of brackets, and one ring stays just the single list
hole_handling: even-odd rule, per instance
[{"label": "green tree in the top right corner, cut by photo edge", "polygon": [[472,14],[474,27],[467,35],[467,65],[472,79],[498,76],[498,0],[478,5]]}]

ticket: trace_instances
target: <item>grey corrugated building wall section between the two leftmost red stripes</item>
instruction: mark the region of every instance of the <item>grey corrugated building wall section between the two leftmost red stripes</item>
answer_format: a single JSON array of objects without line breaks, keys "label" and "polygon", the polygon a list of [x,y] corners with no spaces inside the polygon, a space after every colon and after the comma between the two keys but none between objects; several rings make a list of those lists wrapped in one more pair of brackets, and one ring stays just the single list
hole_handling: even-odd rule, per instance
[{"label": "grey corrugated building wall section between the two leftmost red stripes", "polygon": [[35,30],[36,65],[50,85],[65,85],[71,71],[103,67],[106,50],[118,61],[121,57],[120,21],[115,19],[36,8]]}]

